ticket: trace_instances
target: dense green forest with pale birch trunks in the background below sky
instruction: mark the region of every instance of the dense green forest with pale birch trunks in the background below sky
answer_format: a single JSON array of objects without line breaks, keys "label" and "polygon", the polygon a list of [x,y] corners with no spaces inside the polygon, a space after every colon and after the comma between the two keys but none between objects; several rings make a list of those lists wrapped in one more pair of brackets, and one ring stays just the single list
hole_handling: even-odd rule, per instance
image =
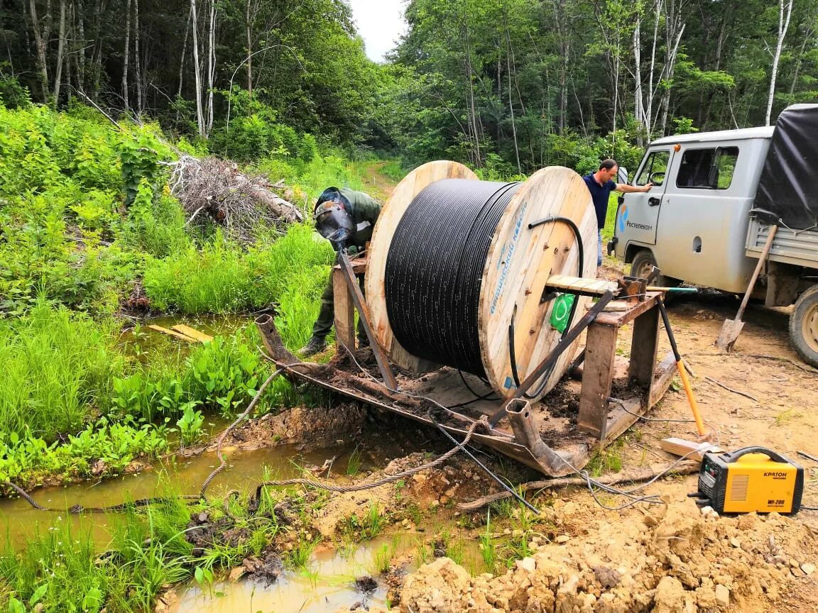
[{"label": "dense green forest with pale birch trunks in the background below sky", "polygon": [[586,172],[605,155],[635,170],[653,136],[763,125],[818,96],[809,0],[405,9],[379,65],[343,0],[0,0],[0,96],[89,98],[245,161],[297,156],[294,131],[400,152],[407,168],[443,158],[506,175]]}]

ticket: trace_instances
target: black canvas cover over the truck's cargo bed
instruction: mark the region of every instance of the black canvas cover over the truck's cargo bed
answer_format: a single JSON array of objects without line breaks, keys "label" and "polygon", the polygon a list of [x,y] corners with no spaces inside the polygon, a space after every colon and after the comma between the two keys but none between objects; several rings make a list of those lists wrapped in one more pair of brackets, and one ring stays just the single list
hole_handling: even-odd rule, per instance
[{"label": "black canvas cover over the truck's cargo bed", "polygon": [[[818,105],[793,105],[775,122],[753,213],[793,230],[818,225]],[[780,220],[780,221],[779,221]]]}]

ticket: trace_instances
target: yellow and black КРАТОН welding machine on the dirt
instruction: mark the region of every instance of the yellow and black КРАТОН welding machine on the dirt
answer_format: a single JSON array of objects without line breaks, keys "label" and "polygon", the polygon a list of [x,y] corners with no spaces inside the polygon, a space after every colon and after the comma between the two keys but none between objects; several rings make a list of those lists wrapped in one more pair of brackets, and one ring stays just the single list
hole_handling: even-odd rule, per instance
[{"label": "yellow and black \u041a\u0420\u0410\u0422\u041e\u041d welding machine on the dirt", "polygon": [[719,513],[779,512],[801,508],[804,469],[764,447],[745,447],[724,454],[704,454],[699,470],[699,507]]}]

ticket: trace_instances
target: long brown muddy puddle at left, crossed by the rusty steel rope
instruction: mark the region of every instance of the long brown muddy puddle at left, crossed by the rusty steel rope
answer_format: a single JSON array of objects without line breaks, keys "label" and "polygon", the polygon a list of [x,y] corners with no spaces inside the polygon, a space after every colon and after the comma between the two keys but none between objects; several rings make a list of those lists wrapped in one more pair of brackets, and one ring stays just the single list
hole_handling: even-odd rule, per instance
[{"label": "long brown muddy puddle at left, crossed by the rusty steel rope", "polygon": [[[209,485],[209,494],[219,490],[249,490],[264,477],[267,467],[274,478],[288,479],[299,476],[296,466],[321,466],[325,460],[335,458],[335,472],[344,473],[353,448],[348,446],[327,448],[312,453],[301,453],[293,445],[275,449],[254,451],[227,450],[228,468],[218,474]],[[103,481],[86,481],[65,487],[46,487],[32,492],[33,498],[43,507],[66,509],[74,504],[83,507],[107,507],[114,504],[151,498],[167,493],[167,483],[180,494],[198,494],[202,483],[213,468],[218,466],[214,454],[202,454],[195,458],[173,457],[145,472],[133,473]],[[362,466],[362,469],[373,468]],[[25,546],[25,541],[38,532],[42,534],[55,521],[71,521],[76,526],[90,528],[94,539],[105,547],[110,538],[109,521],[112,517],[103,513],[72,515],[66,512],[46,512],[32,508],[23,499],[0,500],[0,528],[7,528],[12,548]],[[0,539],[0,548],[6,548]]]}]

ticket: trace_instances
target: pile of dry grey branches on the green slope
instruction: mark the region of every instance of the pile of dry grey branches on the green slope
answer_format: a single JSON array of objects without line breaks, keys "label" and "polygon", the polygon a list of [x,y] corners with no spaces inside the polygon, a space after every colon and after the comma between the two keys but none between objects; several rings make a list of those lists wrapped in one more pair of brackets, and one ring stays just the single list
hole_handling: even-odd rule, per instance
[{"label": "pile of dry grey branches on the green slope", "polygon": [[259,228],[303,220],[298,208],[272,191],[282,184],[249,177],[235,163],[182,155],[171,166],[170,189],[187,212],[187,224],[204,225],[210,217],[231,238],[250,242]]}]

